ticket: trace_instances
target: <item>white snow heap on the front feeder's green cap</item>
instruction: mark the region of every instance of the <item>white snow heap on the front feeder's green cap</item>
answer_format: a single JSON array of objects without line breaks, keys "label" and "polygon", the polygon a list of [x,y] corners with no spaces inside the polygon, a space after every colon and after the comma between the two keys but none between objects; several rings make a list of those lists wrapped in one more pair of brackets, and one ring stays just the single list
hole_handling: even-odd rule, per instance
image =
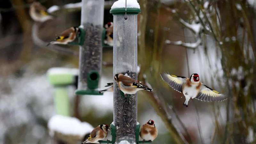
[{"label": "white snow heap on the front feeder's green cap", "polygon": [[[124,7],[125,7],[125,0],[118,0],[112,5],[111,9],[124,8]],[[137,2],[137,0],[126,0],[126,8],[139,8],[140,9],[140,5]]]}]

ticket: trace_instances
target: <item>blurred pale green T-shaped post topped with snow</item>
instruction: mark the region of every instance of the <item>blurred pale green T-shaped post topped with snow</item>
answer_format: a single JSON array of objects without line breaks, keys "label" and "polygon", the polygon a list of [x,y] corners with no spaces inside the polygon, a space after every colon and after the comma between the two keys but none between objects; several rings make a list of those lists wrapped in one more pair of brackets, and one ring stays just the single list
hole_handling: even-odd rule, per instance
[{"label": "blurred pale green T-shaped post topped with snow", "polygon": [[77,69],[73,68],[50,68],[47,76],[54,86],[54,105],[58,115],[70,116],[70,103],[68,86],[77,82]]}]

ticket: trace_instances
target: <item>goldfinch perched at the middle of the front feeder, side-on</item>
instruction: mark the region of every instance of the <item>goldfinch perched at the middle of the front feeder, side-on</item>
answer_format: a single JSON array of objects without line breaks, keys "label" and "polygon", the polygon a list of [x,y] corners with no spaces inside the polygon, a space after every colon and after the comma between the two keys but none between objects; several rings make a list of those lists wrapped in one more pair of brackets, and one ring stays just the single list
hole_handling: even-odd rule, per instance
[{"label": "goldfinch perched at the middle of the front feeder, side-on", "polygon": [[135,94],[139,90],[147,90],[152,92],[153,90],[147,86],[141,84],[140,82],[132,79],[131,77],[124,76],[123,74],[116,74],[115,81],[119,89],[124,92],[124,94]]}]

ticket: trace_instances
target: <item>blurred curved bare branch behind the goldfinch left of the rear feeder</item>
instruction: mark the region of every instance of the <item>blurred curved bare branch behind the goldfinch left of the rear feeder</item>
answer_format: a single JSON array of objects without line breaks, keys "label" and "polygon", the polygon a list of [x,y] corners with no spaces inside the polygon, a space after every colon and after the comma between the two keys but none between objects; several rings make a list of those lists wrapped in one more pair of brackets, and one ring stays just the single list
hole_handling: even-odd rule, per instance
[{"label": "blurred curved bare branch behind the goldfinch left of the rear feeder", "polygon": [[60,47],[60,46],[57,46],[57,45],[46,46],[48,43],[41,40],[37,36],[37,34],[38,34],[38,25],[36,23],[34,23],[34,25],[32,27],[32,39],[33,39],[33,41],[36,45],[38,45],[42,48],[46,48],[46,49],[53,50],[53,51],[56,51],[56,52],[60,52],[60,53],[63,53],[63,54],[67,54],[67,55],[72,54],[72,55],[78,56],[78,52],[76,52],[74,50],[71,50],[71,49],[63,48],[63,47]]}]

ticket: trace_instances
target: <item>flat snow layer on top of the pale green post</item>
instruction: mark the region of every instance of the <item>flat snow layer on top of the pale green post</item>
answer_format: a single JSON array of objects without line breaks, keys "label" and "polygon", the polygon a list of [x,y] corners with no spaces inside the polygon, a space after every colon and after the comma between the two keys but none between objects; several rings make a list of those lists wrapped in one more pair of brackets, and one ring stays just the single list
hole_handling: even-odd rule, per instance
[{"label": "flat snow layer on top of the pale green post", "polygon": [[47,71],[47,75],[54,75],[54,74],[77,75],[78,74],[78,69],[76,69],[76,68],[50,68]]}]

